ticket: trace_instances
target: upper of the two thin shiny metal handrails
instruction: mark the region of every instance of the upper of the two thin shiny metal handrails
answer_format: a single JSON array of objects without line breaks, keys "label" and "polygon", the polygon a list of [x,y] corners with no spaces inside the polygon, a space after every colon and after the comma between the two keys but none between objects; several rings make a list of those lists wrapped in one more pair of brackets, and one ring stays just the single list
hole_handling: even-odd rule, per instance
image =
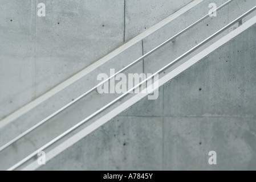
[{"label": "upper of the two thin shiny metal handrails", "polygon": [[[225,7],[226,5],[228,5],[230,2],[232,2],[233,0],[229,0],[227,2],[225,2],[224,4],[222,4],[221,6],[217,7],[215,10],[211,11],[209,14],[212,14],[220,9],[222,9],[222,7]],[[0,147],[0,152],[5,150],[5,148],[9,147],[11,144],[13,144],[14,142],[16,142],[17,140],[21,139],[22,137],[24,137],[25,135],[29,134],[31,131],[35,130],[37,127],[43,125],[43,123],[47,122],[49,119],[55,117],[55,115],[59,114],[60,112],[62,112],[63,110],[67,109],[67,107],[75,104],[75,102],[79,101],[80,99],[82,99],[83,97],[85,97],[87,94],[91,93],[92,91],[94,91],[95,89],[97,89],[99,86],[103,85],[105,82],[111,80],[112,78],[114,78],[116,75],[118,75],[119,73],[125,71],[126,69],[130,68],[132,65],[138,63],[139,61],[143,60],[145,57],[151,55],[153,52],[157,51],[158,49],[160,49],[161,47],[165,46],[166,44],[168,44],[169,42],[171,42],[172,40],[178,38],[178,36],[184,34],[186,31],[190,30],[190,28],[193,28],[194,26],[196,26],[198,23],[202,22],[203,20],[205,20],[206,18],[209,17],[209,14],[203,16],[202,18],[198,19],[196,22],[194,22],[193,24],[190,24],[190,26],[186,27],[184,30],[178,32],[178,34],[172,36],[172,38],[166,40],[164,43],[160,44],[159,46],[157,46],[156,48],[152,49],[151,51],[149,51],[148,53],[146,53],[145,55],[141,56],[139,59],[133,61],[131,64],[127,65],[127,67],[124,67],[123,69],[121,69],[120,71],[116,72],[115,75],[112,75],[110,77],[108,77],[106,80],[104,80],[103,82],[100,82],[100,84],[94,86],[93,88],[91,88],[90,90],[88,90],[86,93],[82,94],[81,96],[79,96],[78,98],[76,98],[74,101],[68,103],[67,105],[63,106],[61,109],[55,111],[55,113],[52,113],[51,115],[49,115],[47,118],[44,118],[42,121],[40,121],[39,123],[37,123],[36,125],[32,126],[29,130],[26,130],[24,133],[18,135],[18,137],[15,137],[14,139],[10,140],[10,142],[4,144],[2,147]]]}]

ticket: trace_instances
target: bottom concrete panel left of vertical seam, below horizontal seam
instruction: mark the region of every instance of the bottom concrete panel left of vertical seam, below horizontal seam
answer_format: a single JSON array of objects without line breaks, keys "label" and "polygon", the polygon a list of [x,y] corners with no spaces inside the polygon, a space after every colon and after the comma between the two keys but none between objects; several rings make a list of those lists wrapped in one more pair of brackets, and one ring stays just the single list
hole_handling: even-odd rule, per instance
[{"label": "bottom concrete panel left of vertical seam, below horizontal seam", "polygon": [[158,170],[162,118],[116,117],[39,170]]}]

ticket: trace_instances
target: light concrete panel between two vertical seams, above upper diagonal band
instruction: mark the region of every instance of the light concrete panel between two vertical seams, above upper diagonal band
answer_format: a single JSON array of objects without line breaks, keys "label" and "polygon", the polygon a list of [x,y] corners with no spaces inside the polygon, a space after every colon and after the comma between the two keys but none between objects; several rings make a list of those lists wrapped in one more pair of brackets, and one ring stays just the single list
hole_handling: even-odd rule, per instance
[{"label": "light concrete panel between two vertical seams, above upper diagonal band", "polygon": [[[36,1],[39,3],[39,1]],[[36,18],[36,96],[123,44],[123,1],[40,1]]]}]

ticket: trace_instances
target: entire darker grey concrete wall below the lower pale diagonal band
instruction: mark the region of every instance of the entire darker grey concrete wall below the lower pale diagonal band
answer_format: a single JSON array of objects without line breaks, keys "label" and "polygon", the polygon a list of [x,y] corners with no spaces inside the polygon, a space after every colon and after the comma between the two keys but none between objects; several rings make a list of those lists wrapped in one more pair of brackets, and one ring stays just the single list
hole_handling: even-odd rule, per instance
[{"label": "entire darker grey concrete wall below the lower pale diagonal band", "polygon": [[255,170],[255,32],[162,86],[162,105],[141,100],[39,169]]}]

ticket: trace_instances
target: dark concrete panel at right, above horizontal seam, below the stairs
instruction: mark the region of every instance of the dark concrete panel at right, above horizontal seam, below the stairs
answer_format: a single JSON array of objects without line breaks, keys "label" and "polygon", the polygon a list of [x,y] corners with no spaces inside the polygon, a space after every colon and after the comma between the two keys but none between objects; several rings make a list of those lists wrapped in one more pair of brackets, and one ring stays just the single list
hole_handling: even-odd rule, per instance
[{"label": "dark concrete panel at right, above horizontal seam, below the stairs", "polygon": [[168,116],[255,115],[256,26],[164,86]]}]

